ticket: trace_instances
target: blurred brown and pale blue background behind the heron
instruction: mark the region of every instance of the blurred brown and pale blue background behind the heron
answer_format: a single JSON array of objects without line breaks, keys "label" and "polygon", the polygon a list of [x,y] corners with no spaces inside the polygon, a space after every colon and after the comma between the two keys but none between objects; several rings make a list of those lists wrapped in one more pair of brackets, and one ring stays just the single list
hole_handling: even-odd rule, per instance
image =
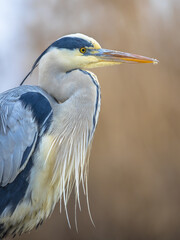
[{"label": "blurred brown and pale blue background behind the heron", "polygon": [[[89,200],[78,233],[59,206],[20,237],[63,240],[180,239],[180,1],[0,0],[0,90],[18,86],[40,53],[73,32],[159,65],[95,69],[102,107],[90,158]],[[37,71],[27,83],[36,83]]]}]

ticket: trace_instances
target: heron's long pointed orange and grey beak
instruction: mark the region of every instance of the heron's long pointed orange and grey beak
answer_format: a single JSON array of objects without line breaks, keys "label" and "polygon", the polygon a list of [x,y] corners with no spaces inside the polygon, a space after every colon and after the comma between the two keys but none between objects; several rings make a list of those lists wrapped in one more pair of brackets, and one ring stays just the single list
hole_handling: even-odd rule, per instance
[{"label": "heron's long pointed orange and grey beak", "polygon": [[[118,63],[153,63],[157,64],[159,61],[154,58],[144,57],[136,54],[125,53],[108,49],[97,49],[92,52],[92,55],[98,58],[98,63],[104,65],[112,65]],[[102,64],[103,65],[103,64]]]}]

